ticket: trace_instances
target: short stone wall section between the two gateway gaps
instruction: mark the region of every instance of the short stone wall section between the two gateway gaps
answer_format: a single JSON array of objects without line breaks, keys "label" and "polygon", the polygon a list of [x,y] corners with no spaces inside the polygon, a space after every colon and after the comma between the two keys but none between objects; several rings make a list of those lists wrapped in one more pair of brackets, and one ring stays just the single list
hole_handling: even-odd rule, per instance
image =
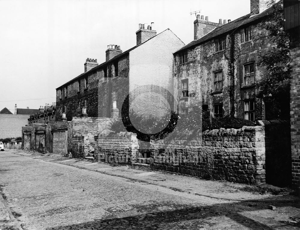
[{"label": "short stone wall section between the two gateway gaps", "polygon": [[137,160],[139,143],[135,133],[99,133],[95,141],[95,159],[98,161],[131,164]]}]

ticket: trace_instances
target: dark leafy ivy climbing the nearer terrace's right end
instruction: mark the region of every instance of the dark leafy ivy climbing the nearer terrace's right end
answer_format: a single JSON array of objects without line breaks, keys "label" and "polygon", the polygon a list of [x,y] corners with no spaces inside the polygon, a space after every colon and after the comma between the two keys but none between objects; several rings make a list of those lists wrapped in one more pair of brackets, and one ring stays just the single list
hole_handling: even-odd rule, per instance
[{"label": "dark leafy ivy climbing the nearer terrace's right end", "polygon": [[[259,26],[269,31],[273,45],[266,55],[259,55],[259,66],[265,66],[268,75],[256,82],[259,89],[259,97],[270,97],[281,110],[281,119],[286,119],[289,108],[289,35],[283,29],[283,5],[282,1],[275,4],[275,0],[270,0],[273,12],[270,18]],[[286,111],[287,110],[287,111]]]}]

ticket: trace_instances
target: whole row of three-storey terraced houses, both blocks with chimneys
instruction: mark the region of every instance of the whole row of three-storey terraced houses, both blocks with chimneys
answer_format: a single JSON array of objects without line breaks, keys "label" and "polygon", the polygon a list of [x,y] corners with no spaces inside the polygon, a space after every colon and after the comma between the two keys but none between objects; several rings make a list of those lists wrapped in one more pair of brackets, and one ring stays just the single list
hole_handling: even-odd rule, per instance
[{"label": "whole row of three-storey terraced houses, both blocks with chimneys", "polygon": [[[279,108],[269,97],[257,97],[255,87],[267,75],[258,61],[271,52],[273,41],[261,23],[272,22],[272,12],[265,0],[250,0],[250,13],[233,21],[216,23],[197,15],[194,37],[187,45],[169,28],[157,34],[154,23],[139,24],[133,48],[123,52],[119,45],[107,46],[104,63],[87,58],[84,73],[56,89],[56,121],[122,116],[129,94],[136,98],[166,92],[173,95],[167,99],[170,107],[147,97],[137,104],[149,111],[168,107],[183,114],[200,108],[215,118],[289,119],[289,105]],[[299,163],[293,161],[293,167]],[[294,184],[298,179],[293,174]]]}]

